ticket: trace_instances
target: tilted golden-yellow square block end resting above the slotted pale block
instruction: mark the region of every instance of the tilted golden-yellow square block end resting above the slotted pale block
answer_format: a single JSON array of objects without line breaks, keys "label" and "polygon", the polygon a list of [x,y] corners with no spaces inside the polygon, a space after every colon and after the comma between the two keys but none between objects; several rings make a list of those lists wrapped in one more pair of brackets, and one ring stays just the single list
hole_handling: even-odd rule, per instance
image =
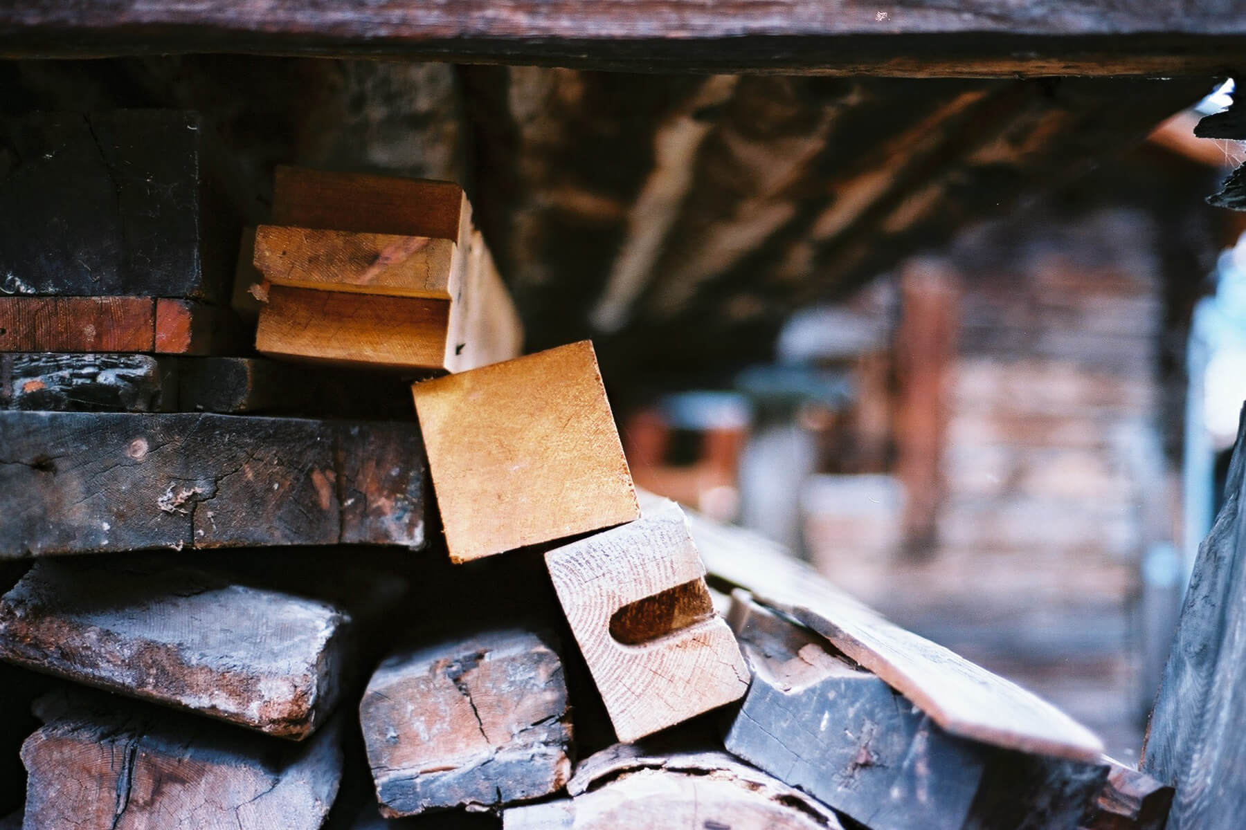
[{"label": "tilted golden-yellow square block end resting above the slotted pale block", "polygon": [[454,561],[639,515],[592,343],[425,381],[411,392]]}]

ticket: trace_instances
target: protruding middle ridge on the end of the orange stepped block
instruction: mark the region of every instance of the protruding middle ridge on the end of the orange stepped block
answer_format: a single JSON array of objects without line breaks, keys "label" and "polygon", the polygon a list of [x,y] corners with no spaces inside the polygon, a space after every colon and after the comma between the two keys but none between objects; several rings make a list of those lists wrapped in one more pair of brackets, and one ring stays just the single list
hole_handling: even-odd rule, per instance
[{"label": "protruding middle ridge on the end of the orange stepped block", "polygon": [[273,285],[450,300],[456,241],[260,225],[254,265]]}]

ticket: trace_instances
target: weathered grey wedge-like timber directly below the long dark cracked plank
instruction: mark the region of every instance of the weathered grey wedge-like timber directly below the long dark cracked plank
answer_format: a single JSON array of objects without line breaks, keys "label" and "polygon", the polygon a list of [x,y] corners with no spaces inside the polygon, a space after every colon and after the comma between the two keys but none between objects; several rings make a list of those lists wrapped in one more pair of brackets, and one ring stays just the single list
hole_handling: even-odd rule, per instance
[{"label": "weathered grey wedge-like timber directly below the long dark cracked plank", "polygon": [[0,599],[0,657],[303,739],[338,704],[340,609],[158,564],[41,560]]}]

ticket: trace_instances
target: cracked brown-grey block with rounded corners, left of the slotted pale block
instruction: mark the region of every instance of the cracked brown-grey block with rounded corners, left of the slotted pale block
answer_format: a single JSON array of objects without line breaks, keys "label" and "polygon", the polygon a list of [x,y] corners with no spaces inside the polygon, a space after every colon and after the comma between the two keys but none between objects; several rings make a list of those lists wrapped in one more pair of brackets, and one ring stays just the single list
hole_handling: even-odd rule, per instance
[{"label": "cracked brown-grey block with rounded corners, left of the slotted pale block", "polygon": [[359,706],[388,816],[500,809],[571,776],[571,713],[546,638],[502,628],[389,657]]}]

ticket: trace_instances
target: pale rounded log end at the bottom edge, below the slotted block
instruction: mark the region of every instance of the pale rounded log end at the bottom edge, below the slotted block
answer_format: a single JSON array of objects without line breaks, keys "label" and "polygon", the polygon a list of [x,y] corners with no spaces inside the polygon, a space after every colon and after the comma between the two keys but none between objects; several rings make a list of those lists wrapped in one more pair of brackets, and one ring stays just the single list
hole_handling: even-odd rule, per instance
[{"label": "pale rounded log end at the bottom edge, below the slotted block", "polygon": [[568,791],[572,799],[506,810],[502,826],[842,830],[824,805],[719,752],[649,754],[616,744],[586,759]]}]

